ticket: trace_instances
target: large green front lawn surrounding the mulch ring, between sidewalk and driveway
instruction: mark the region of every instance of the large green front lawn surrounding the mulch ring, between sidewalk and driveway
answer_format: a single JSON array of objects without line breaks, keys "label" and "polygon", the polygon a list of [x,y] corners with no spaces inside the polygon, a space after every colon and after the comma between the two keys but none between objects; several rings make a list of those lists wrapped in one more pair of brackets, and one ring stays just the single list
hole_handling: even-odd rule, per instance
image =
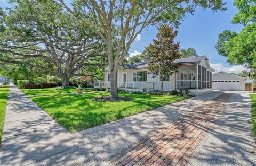
[{"label": "large green front lawn surrounding the mulch ring, between sidewalk and driveway", "polygon": [[37,96],[31,97],[31,99],[63,127],[67,128],[70,132],[76,132],[188,98],[185,96],[121,93],[119,94],[120,96],[133,97],[134,100],[122,102],[90,100],[90,98],[100,95],[109,95],[109,93]]}]

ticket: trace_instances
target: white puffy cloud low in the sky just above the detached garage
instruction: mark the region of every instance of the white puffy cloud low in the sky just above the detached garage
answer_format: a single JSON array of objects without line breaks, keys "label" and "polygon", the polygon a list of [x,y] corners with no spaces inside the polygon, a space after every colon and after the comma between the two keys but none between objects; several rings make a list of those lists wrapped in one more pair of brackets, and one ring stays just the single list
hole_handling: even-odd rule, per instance
[{"label": "white puffy cloud low in the sky just above the detached garage", "polygon": [[228,73],[241,73],[244,69],[246,69],[243,65],[235,65],[232,67],[225,67],[222,63],[210,63],[210,65],[213,69],[215,69],[216,72],[223,71]]}]

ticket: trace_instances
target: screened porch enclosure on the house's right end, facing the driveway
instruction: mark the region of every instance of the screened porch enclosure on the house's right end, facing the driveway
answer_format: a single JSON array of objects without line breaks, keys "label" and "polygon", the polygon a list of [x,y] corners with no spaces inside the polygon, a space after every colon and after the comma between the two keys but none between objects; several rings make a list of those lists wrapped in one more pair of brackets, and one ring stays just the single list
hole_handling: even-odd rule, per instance
[{"label": "screened porch enclosure on the house's right end, facing the driveway", "polygon": [[181,66],[177,73],[177,88],[212,88],[212,72],[199,64]]}]

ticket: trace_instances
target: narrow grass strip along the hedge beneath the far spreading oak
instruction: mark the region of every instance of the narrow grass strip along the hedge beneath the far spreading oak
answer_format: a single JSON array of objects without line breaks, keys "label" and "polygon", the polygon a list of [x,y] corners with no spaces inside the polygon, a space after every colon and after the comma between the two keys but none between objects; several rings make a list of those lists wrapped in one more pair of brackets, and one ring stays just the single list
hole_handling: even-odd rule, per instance
[{"label": "narrow grass strip along the hedge beneath the far spreading oak", "polygon": [[[44,94],[60,94],[60,93],[74,93],[75,87],[68,88],[44,88],[44,89],[20,89],[26,95],[44,95]],[[84,90],[87,91],[87,90]]]}]

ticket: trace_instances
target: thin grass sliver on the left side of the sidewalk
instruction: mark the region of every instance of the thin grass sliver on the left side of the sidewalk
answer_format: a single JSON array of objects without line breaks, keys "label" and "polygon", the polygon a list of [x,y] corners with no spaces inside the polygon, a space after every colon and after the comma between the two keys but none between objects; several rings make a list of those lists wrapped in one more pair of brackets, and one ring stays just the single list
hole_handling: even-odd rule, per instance
[{"label": "thin grass sliver on the left side of the sidewalk", "polygon": [[0,86],[0,142],[3,136],[4,118],[9,86]]}]

